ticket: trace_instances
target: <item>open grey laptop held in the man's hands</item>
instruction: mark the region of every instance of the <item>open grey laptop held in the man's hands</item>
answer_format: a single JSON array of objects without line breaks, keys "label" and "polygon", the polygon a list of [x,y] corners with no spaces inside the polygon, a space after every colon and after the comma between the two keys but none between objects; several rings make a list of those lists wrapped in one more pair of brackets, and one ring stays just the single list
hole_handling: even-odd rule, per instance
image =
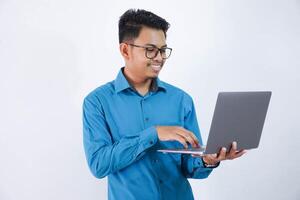
[{"label": "open grey laptop held in the man's hands", "polygon": [[162,153],[215,154],[222,147],[230,150],[254,149],[259,145],[272,92],[220,92],[206,146],[188,149],[159,149]]}]

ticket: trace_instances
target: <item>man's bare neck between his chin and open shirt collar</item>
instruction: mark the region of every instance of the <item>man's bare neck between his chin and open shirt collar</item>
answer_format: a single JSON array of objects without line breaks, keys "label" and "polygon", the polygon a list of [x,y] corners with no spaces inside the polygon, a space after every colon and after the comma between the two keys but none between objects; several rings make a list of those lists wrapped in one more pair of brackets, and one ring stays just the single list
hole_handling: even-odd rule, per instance
[{"label": "man's bare neck between his chin and open shirt collar", "polygon": [[124,68],[124,76],[127,81],[132,85],[141,95],[145,95],[148,93],[150,85],[152,83],[151,78],[142,78],[134,75],[128,67]]}]

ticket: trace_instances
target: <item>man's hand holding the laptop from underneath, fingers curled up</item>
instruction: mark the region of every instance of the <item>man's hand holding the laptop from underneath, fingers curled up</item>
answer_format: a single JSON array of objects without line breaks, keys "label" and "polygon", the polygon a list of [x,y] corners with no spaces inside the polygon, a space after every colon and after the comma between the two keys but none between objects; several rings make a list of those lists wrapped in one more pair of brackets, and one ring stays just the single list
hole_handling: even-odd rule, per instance
[{"label": "man's hand holding the laptop from underneath, fingers curled up", "polygon": [[[222,160],[233,160],[241,157],[246,153],[246,150],[237,151],[237,143],[233,142],[231,149],[226,153],[226,148],[223,147],[218,154],[208,154],[203,156],[203,161],[208,165],[216,165]],[[196,155],[193,155],[196,156]]]}]

